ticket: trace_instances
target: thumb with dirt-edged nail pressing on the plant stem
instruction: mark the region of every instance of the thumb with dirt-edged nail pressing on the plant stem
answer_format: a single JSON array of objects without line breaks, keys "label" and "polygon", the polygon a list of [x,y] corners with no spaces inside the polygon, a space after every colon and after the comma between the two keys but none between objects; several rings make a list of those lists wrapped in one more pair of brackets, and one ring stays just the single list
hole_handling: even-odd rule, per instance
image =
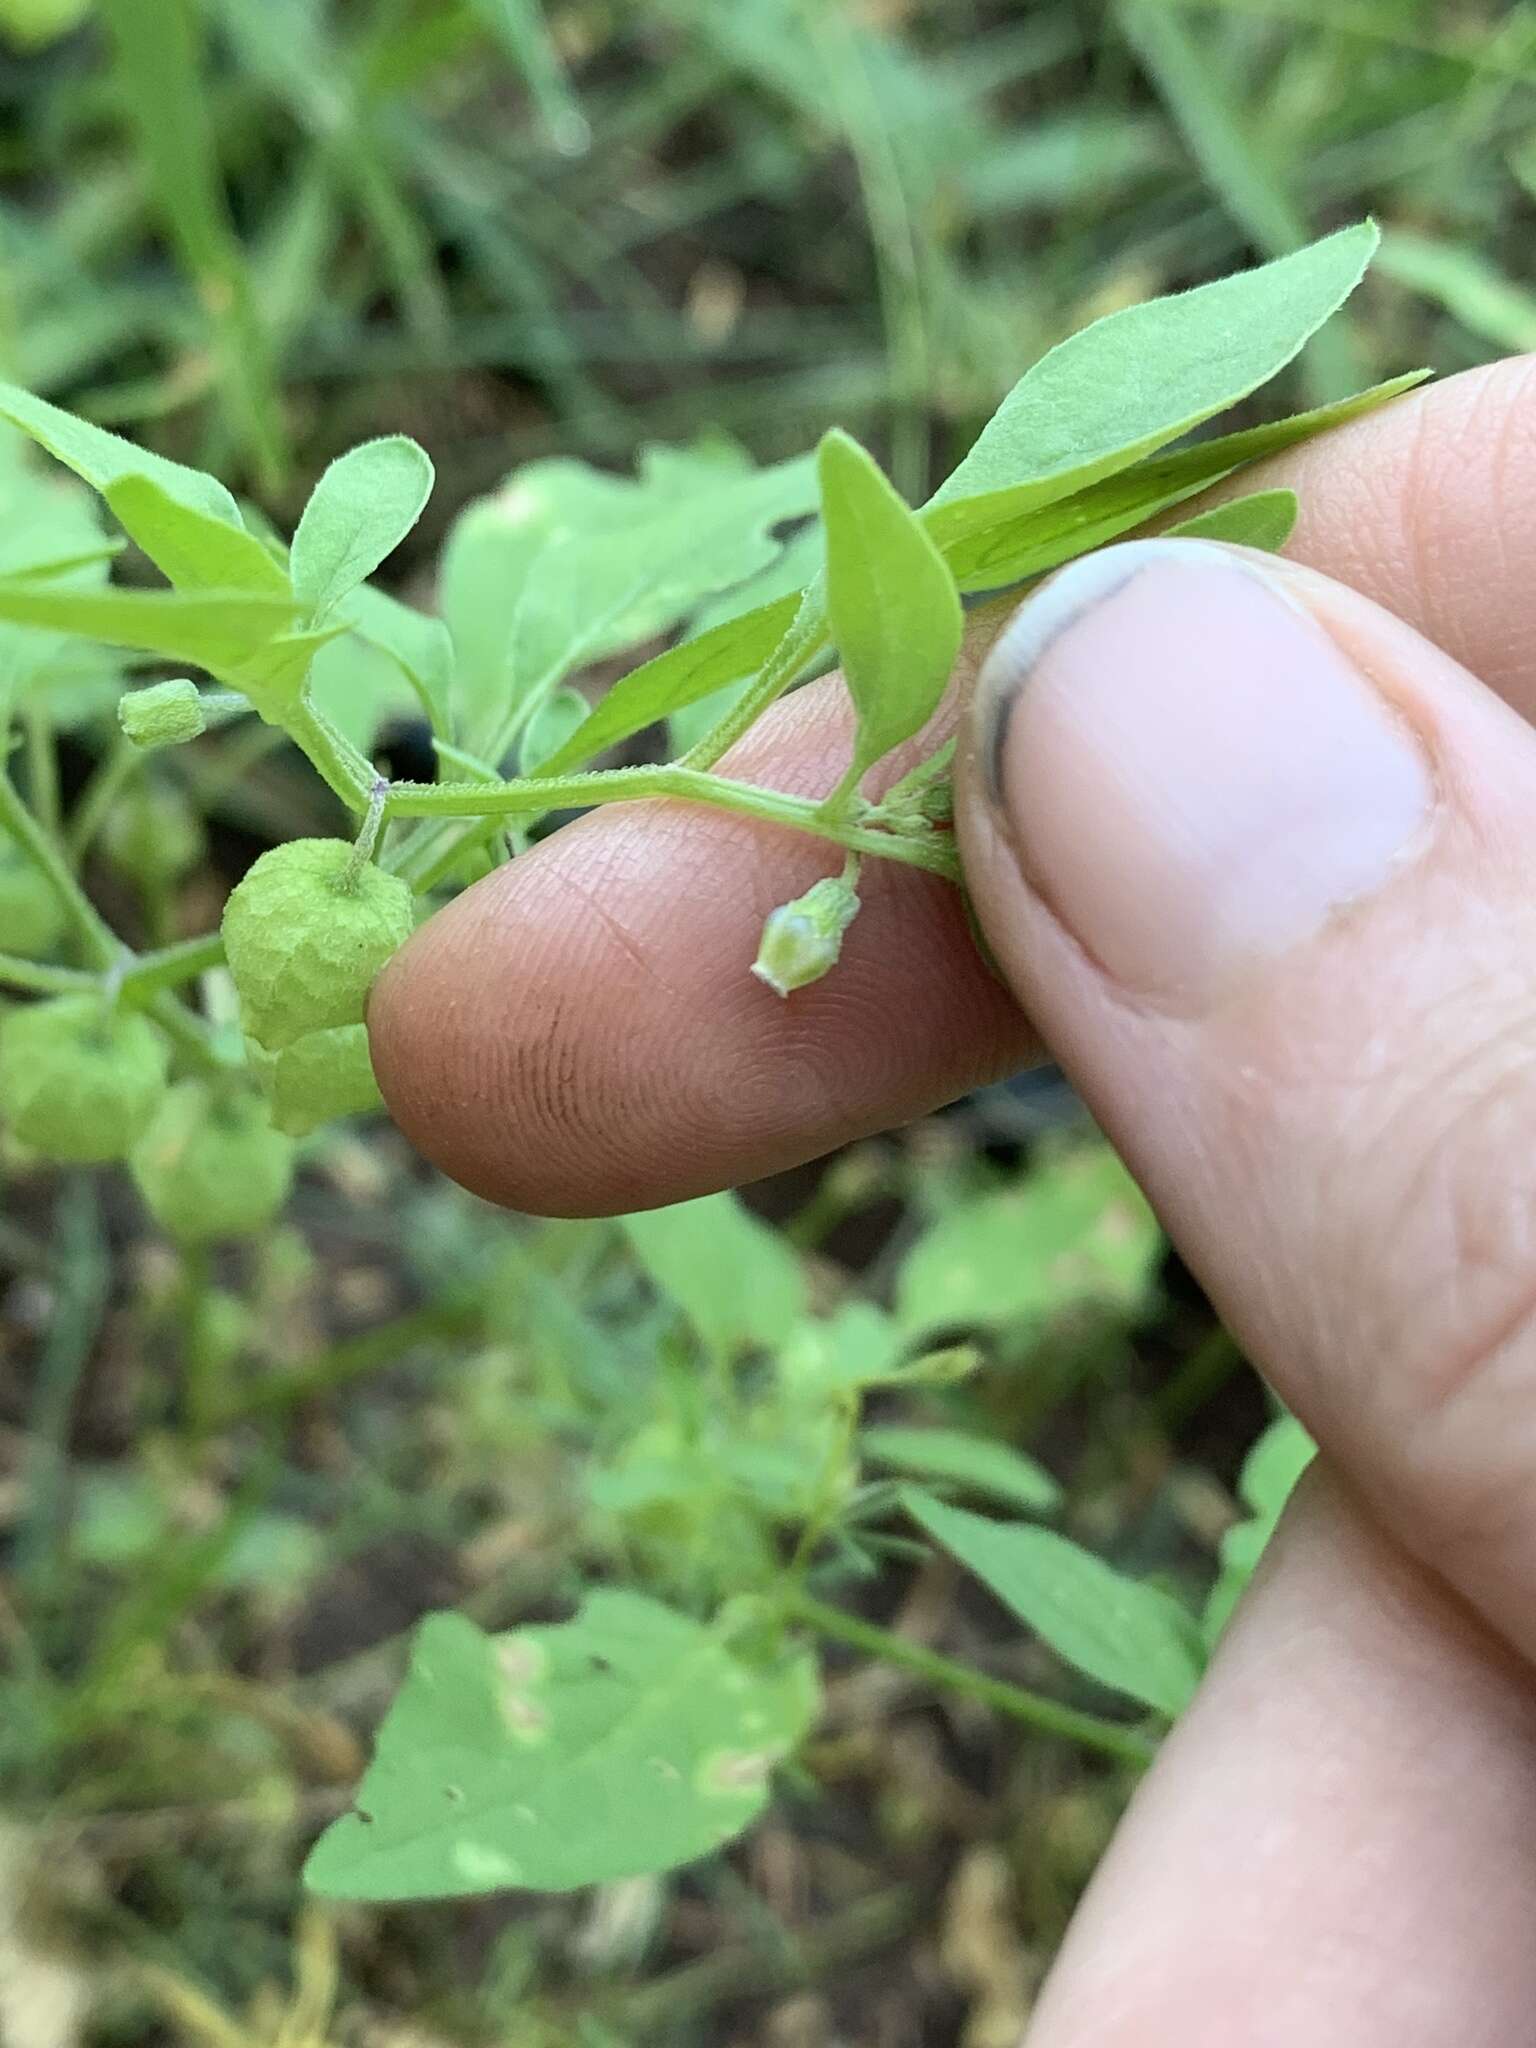
[{"label": "thumb with dirt-edged nail pressing on the plant stem", "polygon": [[1536,735],[1194,541],[1032,596],[961,834],[1018,999],[1249,1356],[1536,1657]]}]

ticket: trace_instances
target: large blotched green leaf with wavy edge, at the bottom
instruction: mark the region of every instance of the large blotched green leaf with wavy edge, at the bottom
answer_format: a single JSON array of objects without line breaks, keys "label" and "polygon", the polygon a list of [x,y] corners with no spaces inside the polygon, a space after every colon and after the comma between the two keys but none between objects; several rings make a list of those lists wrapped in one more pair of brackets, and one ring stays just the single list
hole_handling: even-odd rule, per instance
[{"label": "large blotched green leaf with wavy edge, at the bottom", "polygon": [[817,1712],[809,1657],[754,1669],[639,1593],[485,1636],[426,1620],[356,1812],[305,1868],[328,1898],[565,1892],[709,1855]]}]

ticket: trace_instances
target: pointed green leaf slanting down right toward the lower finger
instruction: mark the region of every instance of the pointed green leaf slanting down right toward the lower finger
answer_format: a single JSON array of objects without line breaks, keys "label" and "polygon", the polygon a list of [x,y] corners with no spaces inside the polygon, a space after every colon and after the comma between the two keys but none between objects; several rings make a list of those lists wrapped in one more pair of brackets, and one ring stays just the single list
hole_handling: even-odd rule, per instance
[{"label": "pointed green leaf slanting down right toward the lower finger", "polygon": [[1083,1677],[1174,1718],[1200,1681],[1194,1616],[1169,1593],[1024,1522],[991,1522],[915,1489],[909,1513]]}]

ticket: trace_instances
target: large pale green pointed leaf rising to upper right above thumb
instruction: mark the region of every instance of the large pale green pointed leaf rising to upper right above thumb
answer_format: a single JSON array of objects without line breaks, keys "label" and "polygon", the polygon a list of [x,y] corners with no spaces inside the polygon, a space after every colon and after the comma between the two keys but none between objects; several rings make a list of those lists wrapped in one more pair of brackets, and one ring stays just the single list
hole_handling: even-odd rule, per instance
[{"label": "large pale green pointed leaf rising to upper right above thumb", "polygon": [[979,526],[1069,498],[1268,383],[1364,276],[1372,221],[1096,319],[1026,371],[924,518],[946,551]]}]

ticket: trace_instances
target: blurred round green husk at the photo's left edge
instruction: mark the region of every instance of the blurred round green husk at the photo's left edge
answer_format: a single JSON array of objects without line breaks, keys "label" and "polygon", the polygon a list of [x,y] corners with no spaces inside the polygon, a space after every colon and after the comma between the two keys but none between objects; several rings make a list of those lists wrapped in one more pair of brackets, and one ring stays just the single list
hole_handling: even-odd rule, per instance
[{"label": "blurred round green husk at the photo's left edge", "polygon": [[121,1159],[166,1087],[168,1053],[147,1018],[96,995],[55,995],[0,1018],[0,1118],[45,1159]]}]

